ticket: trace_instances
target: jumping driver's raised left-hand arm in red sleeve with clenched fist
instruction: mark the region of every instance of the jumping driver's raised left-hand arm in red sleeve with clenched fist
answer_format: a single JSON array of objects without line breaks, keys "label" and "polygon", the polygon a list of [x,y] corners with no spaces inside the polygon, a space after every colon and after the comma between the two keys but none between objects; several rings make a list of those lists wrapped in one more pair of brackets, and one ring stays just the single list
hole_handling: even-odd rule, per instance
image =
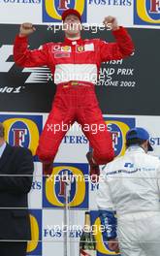
[{"label": "jumping driver's raised left-hand arm in red sleeve with clenched fist", "polygon": [[35,31],[31,23],[23,23],[14,45],[14,59],[20,67],[40,67],[48,64],[48,46],[42,49],[28,49],[28,36]]}]

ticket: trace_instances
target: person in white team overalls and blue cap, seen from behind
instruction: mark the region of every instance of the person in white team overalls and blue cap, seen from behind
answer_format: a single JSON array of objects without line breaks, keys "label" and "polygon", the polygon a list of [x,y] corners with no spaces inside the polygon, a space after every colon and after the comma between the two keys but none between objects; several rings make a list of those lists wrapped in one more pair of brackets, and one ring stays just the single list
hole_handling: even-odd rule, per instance
[{"label": "person in white team overalls and blue cap, seen from behind", "polygon": [[[126,135],[124,156],[105,166],[97,204],[111,250],[121,256],[160,255],[160,160],[144,128]],[[113,210],[116,211],[116,219]]]}]

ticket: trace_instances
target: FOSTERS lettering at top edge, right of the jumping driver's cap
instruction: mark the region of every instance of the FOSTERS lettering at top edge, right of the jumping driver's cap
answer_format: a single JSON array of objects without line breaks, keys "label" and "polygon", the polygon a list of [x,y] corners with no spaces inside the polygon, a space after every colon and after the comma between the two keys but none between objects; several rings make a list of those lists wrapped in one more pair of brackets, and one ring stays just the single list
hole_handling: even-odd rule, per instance
[{"label": "FOSTERS lettering at top edge, right of the jumping driver's cap", "polygon": [[96,6],[131,6],[132,0],[89,0],[88,4]]}]

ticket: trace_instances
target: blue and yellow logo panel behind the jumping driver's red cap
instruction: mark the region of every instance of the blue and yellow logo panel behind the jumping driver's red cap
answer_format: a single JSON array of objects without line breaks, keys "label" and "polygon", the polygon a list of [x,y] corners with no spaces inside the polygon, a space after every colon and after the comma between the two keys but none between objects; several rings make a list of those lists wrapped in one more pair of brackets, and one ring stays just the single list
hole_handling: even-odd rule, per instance
[{"label": "blue and yellow logo panel behind the jumping driver's red cap", "polygon": [[61,22],[62,13],[69,8],[78,10],[82,22],[86,21],[85,0],[43,0],[43,21]]}]

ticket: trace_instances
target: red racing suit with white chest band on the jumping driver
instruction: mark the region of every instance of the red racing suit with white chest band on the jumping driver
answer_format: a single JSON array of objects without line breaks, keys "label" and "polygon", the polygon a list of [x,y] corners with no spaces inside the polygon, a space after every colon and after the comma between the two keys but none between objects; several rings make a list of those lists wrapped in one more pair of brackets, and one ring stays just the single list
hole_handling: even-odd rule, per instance
[{"label": "red racing suit with white chest band on the jumping driver", "polygon": [[[80,123],[84,135],[93,147],[96,163],[106,164],[112,161],[114,154],[111,134],[103,120],[94,92],[94,83],[102,62],[125,58],[134,50],[126,29],[120,27],[112,33],[115,43],[100,39],[65,39],[63,43],[48,43],[41,49],[34,50],[27,48],[26,37],[16,36],[16,64],[20,67],[47,65],[57,84],[52,109],[37,149],[41,161],[53,160],[59,144],[75,121]],[[68,128],[62,129],[64,124]],[[92,125],[98,128],[96,133],[93,132]],[[55,127],[58,128],[56,132]]]}]

